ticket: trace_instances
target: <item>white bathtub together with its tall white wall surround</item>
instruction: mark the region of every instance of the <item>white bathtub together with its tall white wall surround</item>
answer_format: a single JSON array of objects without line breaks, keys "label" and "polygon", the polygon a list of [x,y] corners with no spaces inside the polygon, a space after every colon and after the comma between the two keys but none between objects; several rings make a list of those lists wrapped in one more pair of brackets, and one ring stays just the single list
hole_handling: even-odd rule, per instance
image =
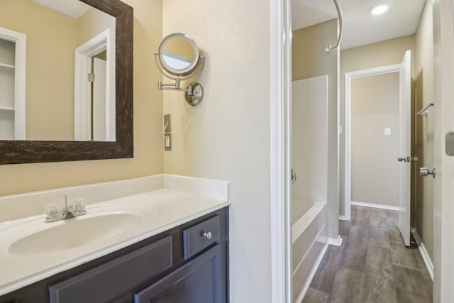
[{"label": "white bathtub together with its tall white wall surround", "polygon": [[336,77],[330,75],[328,79],[328,75],[292,82],[292,169],[297,174],[292,186],[291,215],[292,302],[295,303],[303,299],[331,242],[328,95],[329,84]]}]

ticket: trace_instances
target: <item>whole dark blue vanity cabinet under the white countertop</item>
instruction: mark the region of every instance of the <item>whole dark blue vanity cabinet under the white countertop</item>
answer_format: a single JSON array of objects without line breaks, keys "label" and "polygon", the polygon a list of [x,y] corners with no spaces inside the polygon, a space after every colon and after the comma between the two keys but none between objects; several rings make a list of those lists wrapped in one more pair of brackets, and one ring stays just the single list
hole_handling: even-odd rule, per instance
[{"label": "whole dark blue vanity cabinet under the white countertop", "polygon": [[227,208],[219,209],[1,296],[0,303],[226,303],[227,217]]}]

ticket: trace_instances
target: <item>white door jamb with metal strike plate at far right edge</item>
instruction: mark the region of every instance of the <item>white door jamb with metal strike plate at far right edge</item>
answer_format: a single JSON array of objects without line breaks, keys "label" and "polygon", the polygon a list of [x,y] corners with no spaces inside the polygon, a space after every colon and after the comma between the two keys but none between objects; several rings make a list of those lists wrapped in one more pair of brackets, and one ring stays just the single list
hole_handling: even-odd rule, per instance
[{"label": "white door jamb with metal strike plate at far right edge", "polygon": [[433,0],[434,153],[433,302],[454,297],[454,157],[445,154],[445,134],[454,129],[454,4]]}]

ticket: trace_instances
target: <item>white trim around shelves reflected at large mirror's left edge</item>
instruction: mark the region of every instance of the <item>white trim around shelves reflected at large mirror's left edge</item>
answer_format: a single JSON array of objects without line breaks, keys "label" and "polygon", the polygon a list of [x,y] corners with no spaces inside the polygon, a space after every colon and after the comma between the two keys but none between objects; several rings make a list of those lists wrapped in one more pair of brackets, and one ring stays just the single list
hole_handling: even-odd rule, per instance
[{"label": "white trim around shelves reflected at large mirror's left edge", "polygon": [[27,35],[0,28],[0,39],[16,44],[14,62],[14,138],[26,140],[26,61]]}]

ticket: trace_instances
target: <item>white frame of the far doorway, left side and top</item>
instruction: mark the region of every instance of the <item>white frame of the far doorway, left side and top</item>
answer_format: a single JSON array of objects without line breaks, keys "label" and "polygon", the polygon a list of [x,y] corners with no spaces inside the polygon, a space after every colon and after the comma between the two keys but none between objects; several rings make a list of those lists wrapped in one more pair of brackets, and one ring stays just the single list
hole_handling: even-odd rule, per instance
[{"label": "white frame of the far doorway, left side and top", "polygon": [[350,202],[351,202],[351,82],[352,79],[389,74],[399,72],[402,64],[386,65],[367,70],[357,70],[355,72],[345,72],[344,81],[344,216],[341,220],[350,221]]}]

